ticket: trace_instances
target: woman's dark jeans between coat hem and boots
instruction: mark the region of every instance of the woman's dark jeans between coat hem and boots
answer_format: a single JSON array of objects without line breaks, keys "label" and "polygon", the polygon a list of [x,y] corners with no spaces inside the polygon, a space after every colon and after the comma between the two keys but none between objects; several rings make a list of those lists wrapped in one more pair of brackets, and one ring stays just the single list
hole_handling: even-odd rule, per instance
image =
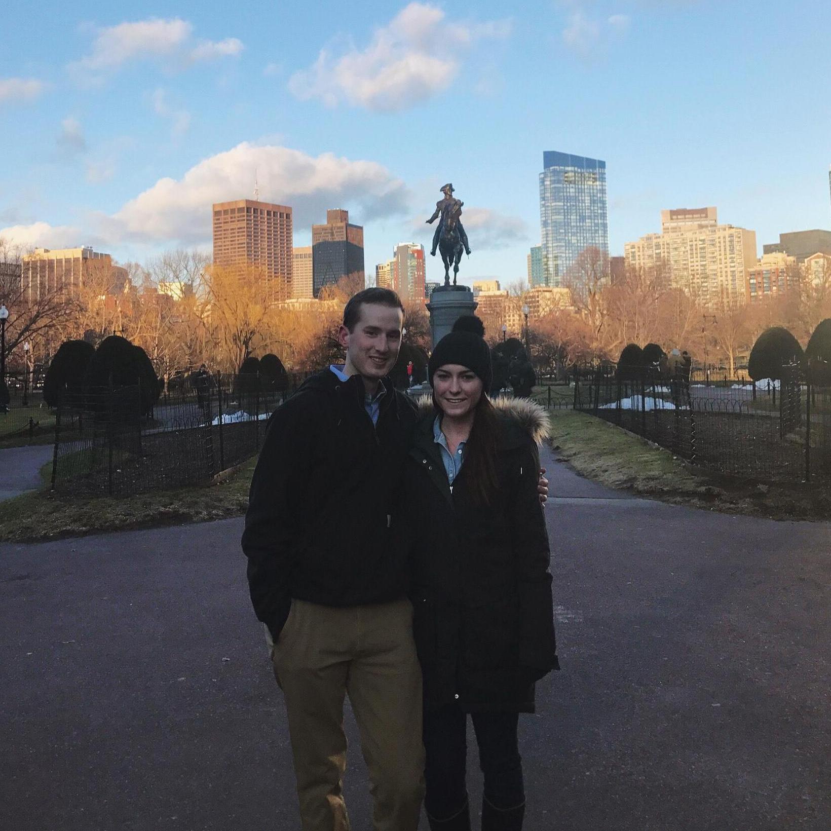
[{"label": "woman's dark jeans between coat hem and boots", "polygon": [[[522,758],[517,742],[517,713],[471,713],[484,774],[484,798],[495,808],[510,809],[525,801]],[[467,800],[465,761],[467,715],[450,704],[424,713],[426,751],[425,810],[435,819],[458,814]]]}]

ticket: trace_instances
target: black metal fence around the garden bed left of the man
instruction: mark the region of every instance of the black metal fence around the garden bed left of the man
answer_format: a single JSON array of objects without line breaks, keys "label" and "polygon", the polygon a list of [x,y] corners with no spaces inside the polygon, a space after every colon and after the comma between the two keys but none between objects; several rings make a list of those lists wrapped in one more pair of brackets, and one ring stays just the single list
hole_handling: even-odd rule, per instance
[{"label": "black metal fence around the garden bed left of the man", "polygon": [[297,382],[276,390],[252,378],[234,389],[211,376],[163,394],[150,414],[141,412],[139,386],[61,401],[52,488],[127,496],[207,482],[257,454],[268,417]]}]

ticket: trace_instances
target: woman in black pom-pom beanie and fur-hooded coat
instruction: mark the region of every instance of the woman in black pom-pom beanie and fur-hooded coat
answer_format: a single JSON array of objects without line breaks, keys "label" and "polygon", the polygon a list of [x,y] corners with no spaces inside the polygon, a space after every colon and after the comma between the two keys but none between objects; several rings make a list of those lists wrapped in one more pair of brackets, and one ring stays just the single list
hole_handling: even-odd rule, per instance
[{"label": "woman in black pom-pom beanie and fur-hooded coat", "polygon": [[522,827],[520,712],[558,667],[548,535],[537,493],[547,417],[533,401],[484,394],[490,350],[451,332],[428,365],[432,406],[406,476],[413,628],[424,676],[425,810],[431,829],[470,829],[465,730],[484,773],[483,831]]}]

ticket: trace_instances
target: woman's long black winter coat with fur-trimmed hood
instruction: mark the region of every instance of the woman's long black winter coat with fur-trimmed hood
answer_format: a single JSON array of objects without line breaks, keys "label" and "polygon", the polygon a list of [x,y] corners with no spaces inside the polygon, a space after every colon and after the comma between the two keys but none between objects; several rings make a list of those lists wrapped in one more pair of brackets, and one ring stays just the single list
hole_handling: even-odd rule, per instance
[{"label": "woman's long black winter coat with fur-trimmed hood", "polygon": [[406,470],[413,630],[425,706],[534,712],[534,681],[559,668],[533,401],[499,399],[499,489],[489,505],[462,465],[451,492],[435,411],[422,416]]}]

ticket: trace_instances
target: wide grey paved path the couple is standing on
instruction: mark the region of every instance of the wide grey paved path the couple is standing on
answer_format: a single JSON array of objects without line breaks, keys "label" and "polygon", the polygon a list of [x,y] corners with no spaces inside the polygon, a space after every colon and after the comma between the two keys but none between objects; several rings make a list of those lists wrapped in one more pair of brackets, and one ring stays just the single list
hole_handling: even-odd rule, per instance
[{"label": "wide grey paved path the couple is standing on", "polygon": [[[548,467],[563,671],[520,722],[526,831],[831,828],[831,525],[610,498]],[[0,828],[297,829],[241,527],[0,545]],[[365,831],[348,714],[347,732]]]}]

